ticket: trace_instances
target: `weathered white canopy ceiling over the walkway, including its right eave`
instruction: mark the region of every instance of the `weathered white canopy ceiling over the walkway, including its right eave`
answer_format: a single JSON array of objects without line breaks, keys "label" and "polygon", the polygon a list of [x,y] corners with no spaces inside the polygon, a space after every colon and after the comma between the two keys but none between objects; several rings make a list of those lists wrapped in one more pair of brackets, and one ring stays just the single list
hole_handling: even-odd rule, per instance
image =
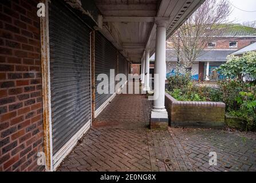
[{"label": "weathered white canopy ceiling over the walkway, including its right eave", "polygon": [[140,63],[145,49],[155,52],[155,18],[167,19],[167,38],[204,0],[96,0],[103,15],[105,35],[133,63]]}]

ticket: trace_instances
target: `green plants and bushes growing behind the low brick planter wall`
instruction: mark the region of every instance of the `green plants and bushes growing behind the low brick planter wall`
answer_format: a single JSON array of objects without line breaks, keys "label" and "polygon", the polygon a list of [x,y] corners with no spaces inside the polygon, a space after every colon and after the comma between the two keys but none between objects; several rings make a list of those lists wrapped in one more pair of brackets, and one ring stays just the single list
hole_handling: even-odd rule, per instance
[{"label": "green plants and bushes growing behind the low brick planter wall", "polygon": [[[249,55],[246,56],[249,57]],[[233,61],[236,60],[237,58],[234,58]],[[246,62],[254,64],[254,59],[251,56],[246,60]],[[241,122],[246,124],[246,130],[251,130],[256,127],[256,86],[250,86],[249,83],[243,82],[238,77],[243,70],[241,68],[234,63],[234,70],[231,71],[230,76],[237,74],[237,77],[218,81],[218,87],[197,86],[187,75],[177,74],[168,78],[169,90],[167,92],[178,101],[224,102],[226,111],[231,116],[238,117],[239,124]],[[240,70],[237,71],[237,69]]]}]

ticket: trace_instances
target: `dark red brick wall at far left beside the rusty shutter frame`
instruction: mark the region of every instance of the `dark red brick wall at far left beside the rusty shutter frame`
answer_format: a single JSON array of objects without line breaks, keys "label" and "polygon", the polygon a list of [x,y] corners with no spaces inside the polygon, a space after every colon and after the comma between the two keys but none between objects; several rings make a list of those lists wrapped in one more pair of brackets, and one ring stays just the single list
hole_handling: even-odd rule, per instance
[{"label": "dark red brick wall at far left beside the rusty shutter frame", "polygon": [[0,2],[0,171],[42,170],[40,19],[37,1]]}]

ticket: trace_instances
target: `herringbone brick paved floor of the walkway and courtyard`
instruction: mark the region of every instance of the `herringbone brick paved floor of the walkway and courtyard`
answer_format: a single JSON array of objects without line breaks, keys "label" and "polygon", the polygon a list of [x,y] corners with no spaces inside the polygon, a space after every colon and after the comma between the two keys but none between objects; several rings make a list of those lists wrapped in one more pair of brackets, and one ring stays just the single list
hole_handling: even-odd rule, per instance
[{"label": "herringbone brick paved floor of the walkway and courtyard", "polygon": [[145,96],[116,96],[58,171],[256,171],[255,133],[149,130],[151,106]]}]

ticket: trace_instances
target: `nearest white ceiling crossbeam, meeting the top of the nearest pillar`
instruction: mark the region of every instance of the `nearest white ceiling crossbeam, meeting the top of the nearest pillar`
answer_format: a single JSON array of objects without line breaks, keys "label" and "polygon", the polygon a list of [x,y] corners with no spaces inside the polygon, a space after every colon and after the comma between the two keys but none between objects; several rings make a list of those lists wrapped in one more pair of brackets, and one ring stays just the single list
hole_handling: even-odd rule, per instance
[{"label": "nearest white ceiling crossbeam, meeting the top of the nearest pillar", "polygon": [[115,17],[107,16],[103,22],[154,22],[155,17]]}]

